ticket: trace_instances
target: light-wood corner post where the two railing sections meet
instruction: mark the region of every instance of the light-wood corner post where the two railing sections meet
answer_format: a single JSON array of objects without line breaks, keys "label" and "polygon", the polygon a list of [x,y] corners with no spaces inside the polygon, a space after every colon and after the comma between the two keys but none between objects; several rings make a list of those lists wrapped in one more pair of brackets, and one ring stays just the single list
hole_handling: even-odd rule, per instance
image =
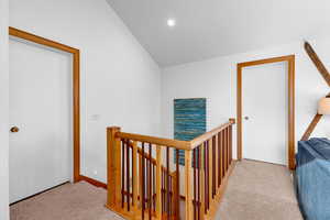
[{"label": "light-wood corner post where the two railing sections meet", "polygon": [[191,197],[191,151],[185,151],[185,185],[186,188],[186,220],[193,219],[193,197]]}]

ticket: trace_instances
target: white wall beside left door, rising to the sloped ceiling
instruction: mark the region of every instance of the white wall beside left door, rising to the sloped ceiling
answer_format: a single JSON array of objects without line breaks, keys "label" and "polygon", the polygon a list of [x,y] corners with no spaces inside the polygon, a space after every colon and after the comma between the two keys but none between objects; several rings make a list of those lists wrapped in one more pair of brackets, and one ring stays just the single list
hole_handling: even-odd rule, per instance
[{"label": "white wall beside left door, rising to the sloped ceiling", "polygon": [[10,25],[81,52],[81,173],[106,182],[106,128],[157,134],[161,70],[106,0],[10,1]]}]

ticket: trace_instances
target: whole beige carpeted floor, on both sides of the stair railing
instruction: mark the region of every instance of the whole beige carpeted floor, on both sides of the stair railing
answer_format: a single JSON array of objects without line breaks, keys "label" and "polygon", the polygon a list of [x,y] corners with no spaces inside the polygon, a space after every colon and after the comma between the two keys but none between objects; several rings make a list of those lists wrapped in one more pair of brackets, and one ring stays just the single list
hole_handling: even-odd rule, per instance
[{"label": "whole beige carpeted floor, on both sides of the stair railing", "polygon": [[[11,220],[121,220],[105,208],[106,190],[66,184],[11,206]],[[253,161],[237,164],[217,220],[302,220],[290,174],[284,166]]]}]

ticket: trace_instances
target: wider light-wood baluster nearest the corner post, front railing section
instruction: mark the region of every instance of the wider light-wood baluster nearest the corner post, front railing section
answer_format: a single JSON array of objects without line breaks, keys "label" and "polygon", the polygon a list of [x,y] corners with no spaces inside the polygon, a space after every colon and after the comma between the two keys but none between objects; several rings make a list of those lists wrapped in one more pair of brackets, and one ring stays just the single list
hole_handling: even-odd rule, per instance
[{"label": "wider light-wood baluster nearest the corner post, front railing section", "polygon": [[156,148],[156,219],[162,220],[162,147]]}]

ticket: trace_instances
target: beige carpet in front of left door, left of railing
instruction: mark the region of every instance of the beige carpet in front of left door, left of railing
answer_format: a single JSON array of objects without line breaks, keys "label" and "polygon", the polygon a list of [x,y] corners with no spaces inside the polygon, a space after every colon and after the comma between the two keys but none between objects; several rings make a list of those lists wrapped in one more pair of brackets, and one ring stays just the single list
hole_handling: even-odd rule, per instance
[{"label": "beige carpet in front of left door, left of railing", "polygon": [[105,208],[106,190],[66,184],[10,207],[10,220],[122,220]]}]

